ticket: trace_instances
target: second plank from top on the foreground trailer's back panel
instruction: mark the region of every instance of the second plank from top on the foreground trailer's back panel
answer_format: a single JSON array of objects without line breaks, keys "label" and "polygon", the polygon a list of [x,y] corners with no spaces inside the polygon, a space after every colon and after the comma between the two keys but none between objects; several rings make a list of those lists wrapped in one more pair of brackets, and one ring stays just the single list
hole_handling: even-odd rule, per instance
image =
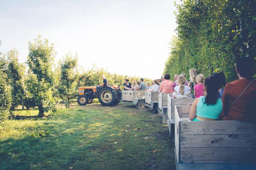
[{"label": "second plank from top on the foreground trailer's back panel", "polygon": [[[182,121],[182,118],[180,118]],[[256,146],[254,135],[182,135],[181,148],[250,148]]]}]

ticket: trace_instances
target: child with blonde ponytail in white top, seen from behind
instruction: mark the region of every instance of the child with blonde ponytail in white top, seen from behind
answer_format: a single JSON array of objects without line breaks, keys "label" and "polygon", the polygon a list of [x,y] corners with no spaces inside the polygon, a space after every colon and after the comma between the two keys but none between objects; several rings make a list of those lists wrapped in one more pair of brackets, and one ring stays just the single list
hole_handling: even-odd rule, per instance
[{"label": "child with blonde ponytail in white top, seen from behind", "polygon": [[172,97],[176,98],[178,97],[177,95],[182,95],[179,97],[184,97],[184,96],[190,97],[190,87],[185,86],[185,83],[186,83],[185,77],[180,75],[177,79],[177,82],[178,82],[178,86],[174,87],[174,93]]}]

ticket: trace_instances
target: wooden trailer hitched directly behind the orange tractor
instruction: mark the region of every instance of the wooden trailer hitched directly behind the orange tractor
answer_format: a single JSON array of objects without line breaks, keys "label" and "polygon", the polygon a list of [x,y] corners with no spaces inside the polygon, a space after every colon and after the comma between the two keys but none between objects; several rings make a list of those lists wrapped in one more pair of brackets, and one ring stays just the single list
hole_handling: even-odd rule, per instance
[{"label": "wooden trailer hitched directly behind the orange tractor", "polygon": [[145,108],[145,90],[123,90],[122,100],[124,103],[138,104],[138,108]]}]

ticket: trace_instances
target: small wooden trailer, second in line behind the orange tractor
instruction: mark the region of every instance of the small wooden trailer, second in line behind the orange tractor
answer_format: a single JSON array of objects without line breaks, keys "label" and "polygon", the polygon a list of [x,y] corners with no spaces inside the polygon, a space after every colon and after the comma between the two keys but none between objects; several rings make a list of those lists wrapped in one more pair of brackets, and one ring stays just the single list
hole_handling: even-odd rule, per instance
[{"label": "small wooden trailer, second in line behind the orange tractor", "polygon": [[153,109],[154,113],[158,112],[158,91],[145,90],[145,106]]}]

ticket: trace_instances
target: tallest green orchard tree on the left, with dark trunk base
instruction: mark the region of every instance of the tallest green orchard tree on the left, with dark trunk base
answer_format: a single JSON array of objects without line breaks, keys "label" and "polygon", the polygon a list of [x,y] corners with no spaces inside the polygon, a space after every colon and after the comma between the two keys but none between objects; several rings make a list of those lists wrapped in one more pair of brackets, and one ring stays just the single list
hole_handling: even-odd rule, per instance
[{"label": "tallest green orchard tree on the left, with dark trunk base", "polygon": [[42,117],[45,111],[55,110],[55,102],[52,97],[55,55],[54,46],[53,44],[49,45],[47,39],[43,42],[41,36],[38,36],[35,38],[34,43],[29,42],[27,65],[31,74],[26,82],[26,93],[34,100],[38,107],[39,117]]}]

